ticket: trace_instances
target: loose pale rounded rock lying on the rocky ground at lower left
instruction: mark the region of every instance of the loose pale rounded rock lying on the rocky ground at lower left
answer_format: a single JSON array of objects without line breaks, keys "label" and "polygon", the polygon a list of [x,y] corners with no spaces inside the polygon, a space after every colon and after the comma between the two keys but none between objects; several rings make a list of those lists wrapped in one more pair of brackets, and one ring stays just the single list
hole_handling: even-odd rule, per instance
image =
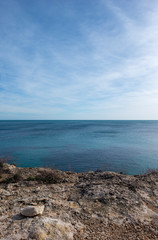
[{"label": "loose pale rounded rock lying on the rocky ground at lower left", "polygon": [[42,215],[44,211],[44,205],[42,206],[28,206],[21,210],[21,214],[25,217],[34,217],[37,215]]}]

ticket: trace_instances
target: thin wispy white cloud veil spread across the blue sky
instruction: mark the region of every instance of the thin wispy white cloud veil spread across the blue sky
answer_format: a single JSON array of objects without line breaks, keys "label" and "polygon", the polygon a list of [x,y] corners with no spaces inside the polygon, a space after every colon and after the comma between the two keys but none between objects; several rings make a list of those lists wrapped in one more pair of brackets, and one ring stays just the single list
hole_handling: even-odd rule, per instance
[{"label": "thin wispy white cloud veil spread across the blue sky", "polygon": [[[5,30],[0,112],[45,113],[50,119],[55,114],[62,119],[158,118],[158,4],[148,10],[150,2],[137,3],[138,21],[117,1],[102,3],[114,19],[102,18],[99,27],[82,20],[82,38],[74,45],[57,44],[27,16],[24,29],[18,23],[21,33]],[[15,15],[9,23],[16,27]]]}]

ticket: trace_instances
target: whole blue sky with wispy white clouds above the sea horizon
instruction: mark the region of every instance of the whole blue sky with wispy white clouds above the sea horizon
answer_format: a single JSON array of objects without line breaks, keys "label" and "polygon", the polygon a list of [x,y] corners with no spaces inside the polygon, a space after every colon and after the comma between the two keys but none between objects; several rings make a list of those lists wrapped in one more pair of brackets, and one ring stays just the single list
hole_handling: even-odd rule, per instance
[{"label": "whole blue sky with wispy white clouds above the sea horizon", "polygon": [[157,0],[1,0],[0,120],[157,120]]}]

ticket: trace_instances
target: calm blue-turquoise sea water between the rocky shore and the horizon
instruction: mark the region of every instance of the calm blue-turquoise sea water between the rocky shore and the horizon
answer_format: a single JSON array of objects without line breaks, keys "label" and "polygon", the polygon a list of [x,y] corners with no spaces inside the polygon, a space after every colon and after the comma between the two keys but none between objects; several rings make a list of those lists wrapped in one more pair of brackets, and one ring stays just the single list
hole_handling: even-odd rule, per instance
[{"label": "calm blue-turquoise sea water between the rocky shore and the horizon", "polygon": [[140,174],[158,168],[158,121],[0,121],[0,157],[21,167]]}]

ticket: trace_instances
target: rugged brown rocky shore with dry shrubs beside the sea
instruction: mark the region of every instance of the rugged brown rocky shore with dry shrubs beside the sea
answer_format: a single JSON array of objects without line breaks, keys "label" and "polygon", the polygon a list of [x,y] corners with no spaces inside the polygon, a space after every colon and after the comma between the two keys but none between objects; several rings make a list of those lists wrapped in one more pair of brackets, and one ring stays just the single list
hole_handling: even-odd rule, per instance
[{"label": "rugged brown rocky shore with dry shrubs beside the sea", "polygon": [[157,240],[158,172],[0,166],[1,240]]}]

